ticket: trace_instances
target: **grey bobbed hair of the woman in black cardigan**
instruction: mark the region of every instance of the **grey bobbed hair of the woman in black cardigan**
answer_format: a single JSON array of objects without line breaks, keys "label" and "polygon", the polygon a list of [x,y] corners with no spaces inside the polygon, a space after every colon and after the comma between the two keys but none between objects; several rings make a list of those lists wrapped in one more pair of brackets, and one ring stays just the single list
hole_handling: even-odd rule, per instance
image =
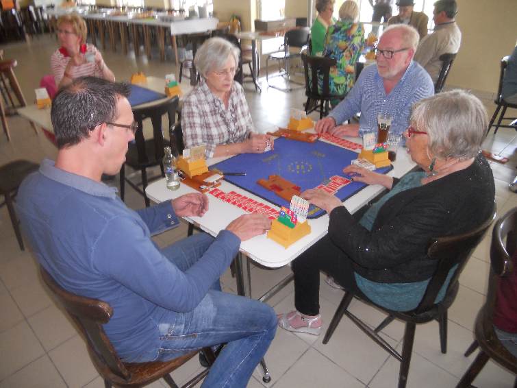
[{"label": "grey bobbed hair of the woman in black cardigan", "polygon": [[483,103],[461,89],[418,101],[410,121],[416,130],[427,132],[429,152],[440,159],[477,156],[488,127]]}]

